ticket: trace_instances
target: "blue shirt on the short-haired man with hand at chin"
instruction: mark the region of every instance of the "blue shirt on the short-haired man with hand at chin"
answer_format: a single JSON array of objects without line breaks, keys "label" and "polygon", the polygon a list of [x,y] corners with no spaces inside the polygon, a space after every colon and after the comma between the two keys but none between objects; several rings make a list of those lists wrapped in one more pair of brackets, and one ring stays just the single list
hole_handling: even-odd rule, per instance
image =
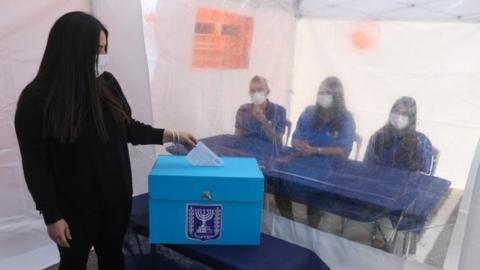
[{"label": "blue shirt on the short-haired man with hand at chin", "polygon": [[[262,124],[252,114],[253,103],[240,106],[235,117],[235,128],[243,131],[245,137],[257,137],[268,141],[268,136],[262,128]],[[285,108],[267,100],[265,116],[275,129],[275,133],[284,134],[287,121]]]}]

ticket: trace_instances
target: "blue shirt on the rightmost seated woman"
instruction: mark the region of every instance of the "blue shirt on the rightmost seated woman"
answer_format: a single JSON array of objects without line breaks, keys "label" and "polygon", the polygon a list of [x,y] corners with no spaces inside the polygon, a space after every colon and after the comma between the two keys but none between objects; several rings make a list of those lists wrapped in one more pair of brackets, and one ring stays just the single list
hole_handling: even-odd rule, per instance
[{"label": "blue shirt on the rightmost seated woman", "polygon": [[[376,132],[372,137],[370,137],[370,141],[368,142],[367,152],[365,153],[365,161],[371,164],[377,164],[381,166],[388,166],[394,167],[398,169],[405,169],[409,170],[405,164],[396,164],[395,163],[395,154],[397,153],[401,142],[402,136],[394,136],[392,145],[388,148],[384,147],[383,152],[380,154],[379,157],[375,156],[375,144],[378,143],[380,136],[380,132]],[[416,160],[417,168],[422,168],[421,171],[430,174],[431,172],[431,165],[432,165],[432,143],[430,140],[425,136],[425,134],[421,132],[417,132],[417,139],[420,143],[420,147],[418,149],[417,156],[421,157],[420,159]]]}]

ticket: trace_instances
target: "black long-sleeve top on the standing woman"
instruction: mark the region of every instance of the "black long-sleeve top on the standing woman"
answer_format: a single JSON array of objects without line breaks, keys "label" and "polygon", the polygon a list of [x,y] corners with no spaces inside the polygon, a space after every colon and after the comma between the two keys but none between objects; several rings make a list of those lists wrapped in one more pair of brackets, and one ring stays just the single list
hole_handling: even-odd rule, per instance
[{"label": "black long-sleeve top on the standing woman", "polygon": [[[131,115],[115,77],[105,72],[102,79]],[[128,203],[132,173],[127,143],[162,144],[164,130],[134,119],[118,123],[104,108],[108,141],[100,139],[92,115],[88,114],[79,137],[72,143],[59,143],[43,131],[48,91],[48,86],[27,86],[15,114],[25,180],[45,224],[60,220],[69,211],[92,213]]]}]

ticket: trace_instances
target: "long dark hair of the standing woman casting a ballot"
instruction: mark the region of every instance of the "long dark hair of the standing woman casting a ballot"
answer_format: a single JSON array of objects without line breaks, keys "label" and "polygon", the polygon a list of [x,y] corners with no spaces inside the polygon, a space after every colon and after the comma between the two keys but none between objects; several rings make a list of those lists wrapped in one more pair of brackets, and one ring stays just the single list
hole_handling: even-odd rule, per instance
[{"label": "long dark hair of the standing woman casting a ballot", "polygon": [[116,121],[129,119],[102,78],[95,76],[102,31],[108,37],[99,20],[79,11],[63,15],[50,30],[40,68],[30,84],[48,88],[44,134],[59,142],[78,138],[82,121],[89,113],[99,137],[107,141],[103,104]]}]

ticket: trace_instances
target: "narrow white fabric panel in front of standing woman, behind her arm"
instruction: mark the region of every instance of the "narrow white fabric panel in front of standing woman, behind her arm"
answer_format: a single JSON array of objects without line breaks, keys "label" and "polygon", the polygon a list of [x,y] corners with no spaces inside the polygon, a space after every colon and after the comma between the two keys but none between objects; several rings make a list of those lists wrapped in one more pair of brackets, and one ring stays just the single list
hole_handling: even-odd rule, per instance
[{"label": "narrow white fabric panel in front of standing woman, behind her arm", "polygon": [[[133,117],[152,124],[152,103],[138,1],[98,1],[94,13],[109,31],[109,71],[118,79],[132,108]],[[162,123],[158,124],[163,127]],[[130,147],[135,194],[147,192],[147,176],[154,160],[154,146]]]}]

